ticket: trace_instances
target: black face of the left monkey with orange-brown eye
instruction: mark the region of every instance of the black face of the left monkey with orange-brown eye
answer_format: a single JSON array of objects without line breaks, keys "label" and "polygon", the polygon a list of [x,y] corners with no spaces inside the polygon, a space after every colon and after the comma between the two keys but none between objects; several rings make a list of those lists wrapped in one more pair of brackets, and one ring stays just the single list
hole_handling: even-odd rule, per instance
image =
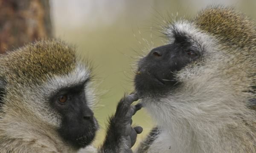
[{"label": "black face of the left monkey with orange-brown eye", "polygon": [[87,105],[83,84],[59,91],[51,103],[61,114],[58,132],[66,142],[81,148],[93,141],[98,123]]}]

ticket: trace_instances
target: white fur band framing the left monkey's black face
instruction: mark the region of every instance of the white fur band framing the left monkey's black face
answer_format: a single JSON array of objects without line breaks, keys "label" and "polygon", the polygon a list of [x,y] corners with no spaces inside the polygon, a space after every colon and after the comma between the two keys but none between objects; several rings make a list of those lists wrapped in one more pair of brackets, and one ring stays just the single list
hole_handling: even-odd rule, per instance
[{"label": "white fur band framing the left monkey's black face", "polygon": [[[42,99],[35,102],[38,103],[38,106],[40,106],[37,106],[39,110],[37,110],[36,114],[41,116],[41,118],[46,120],[46,122],[51,123],[55,126],[59,126],[60,116],[58,115],[58,113],[56,113],[55,110],[52,110],[52,108],[49,107],[49,97],[58,92],[59,90],[61,90],[62,88],[68,88],[73,87],[74,85],[79,85],[80,83],[83,83],[89,78],[90,70],[82,64],[77,64],[76,68],[66,75],[49,77],[48,81],[43,86],[36,87],[37,92],[42,93],[36,95],[38,96],[38,99]],[[87,100],[87,105],[90,108],[93,108],[95,101],[95,93],[92,85],[92,82],[89,81],[86,83],[86,86],[84,87],[84,94]],[[47,111],[45,109],[47,109]],[[42,112],[47,112],[47,114],[42,114]]]}]

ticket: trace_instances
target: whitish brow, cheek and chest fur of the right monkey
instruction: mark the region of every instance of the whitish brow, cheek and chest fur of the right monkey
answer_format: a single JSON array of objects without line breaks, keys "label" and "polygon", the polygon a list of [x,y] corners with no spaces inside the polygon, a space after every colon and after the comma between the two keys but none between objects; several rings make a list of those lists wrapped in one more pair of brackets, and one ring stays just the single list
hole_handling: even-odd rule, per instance
[{"label": "whitish brow, cheek and chest fur of the right monkey", "polygon": [[214,37],[188,21],[180,20],[166,31],[170,43],[175,41],[175,33],[186,36],[192,45],[201,48],[203,59],[200,65],[188,65],[177,73],[177,81],[182,82],[180,88],[164,97],[142,99],[162,130],[148,153],[242,150],[246,144],[241,144],[240,139],[252,132],[244,121],[254,120],[255,113],[246,106],[246,94],[235,94],[232,76],[223,74],[223,67],[233,55],[220,51]]}]

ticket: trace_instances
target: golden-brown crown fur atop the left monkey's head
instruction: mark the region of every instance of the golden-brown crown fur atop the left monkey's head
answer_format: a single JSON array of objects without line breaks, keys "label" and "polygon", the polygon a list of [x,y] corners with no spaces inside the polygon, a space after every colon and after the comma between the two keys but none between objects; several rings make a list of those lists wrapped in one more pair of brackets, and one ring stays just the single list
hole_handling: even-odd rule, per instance
[{"label": "golden-brown crown fur atop the left monkey's head", "polygon": [[61,40],[41,40],[0,56],[2,77],[8,83],[42,83],[75,68],[74,47]]}]

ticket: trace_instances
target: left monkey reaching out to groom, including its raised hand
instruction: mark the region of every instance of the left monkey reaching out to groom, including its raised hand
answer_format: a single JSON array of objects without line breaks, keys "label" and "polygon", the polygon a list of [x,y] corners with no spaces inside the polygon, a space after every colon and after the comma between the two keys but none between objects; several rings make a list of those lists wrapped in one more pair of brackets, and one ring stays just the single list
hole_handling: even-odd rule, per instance
[{"label": "left monkey reaching out to groom, including its raised hand", "polygon": [[[0,55],[0,153],[77,153],[98,123],[90,65],[73,46],[41,40]],[[124,97],[98,153],[131,153],[141,127],[131,127],[137,95]],[[89,149],[80,150],[89,153]]]}]

